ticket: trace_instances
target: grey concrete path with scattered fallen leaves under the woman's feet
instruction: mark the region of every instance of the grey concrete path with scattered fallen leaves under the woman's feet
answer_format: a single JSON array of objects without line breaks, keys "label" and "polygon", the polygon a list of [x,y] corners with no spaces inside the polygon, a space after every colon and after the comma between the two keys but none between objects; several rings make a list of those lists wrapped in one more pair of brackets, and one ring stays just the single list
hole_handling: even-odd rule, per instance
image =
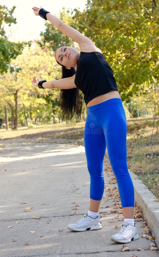
[{"label": "grey concrete path with scattered fallen leaves under the woman's feet", "polygon": [[[141,238],[143,221],[136,222],[139,239],[126,244],[131,251],[121,252],[123,244],[110,240],[117,232],[114,227],[122,225],[122,221],[116,219],[118,214],[110,213],[114,202],[107,199],[108,187],[117,187],[117,184],[106,184],[106,197],[100,208],[102,230],[73,232],[67,229],[67,224],[80,220],[89,208],[90,176],[84,146],[14,141],[2,146],[0,256],[158,256],[148,250],[152,241]],[[104,172],[105,181],[107,175]],[[27,207],[33,208],[25,209]],[[143,250],[137,251],[137,248]]]}]

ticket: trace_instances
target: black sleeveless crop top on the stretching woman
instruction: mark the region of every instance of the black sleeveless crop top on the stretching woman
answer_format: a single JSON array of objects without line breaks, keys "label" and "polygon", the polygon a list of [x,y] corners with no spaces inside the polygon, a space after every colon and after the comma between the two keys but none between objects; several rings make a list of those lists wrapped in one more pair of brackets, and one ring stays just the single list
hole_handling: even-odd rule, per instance
[{"label": "black sleeveless crop top on the stretching woman", "polygon": [[86,105],[99,95],[104,95],[113,89],[118,91],[113,71],[99,52],[80,53],[75,85],[82,90]]}]

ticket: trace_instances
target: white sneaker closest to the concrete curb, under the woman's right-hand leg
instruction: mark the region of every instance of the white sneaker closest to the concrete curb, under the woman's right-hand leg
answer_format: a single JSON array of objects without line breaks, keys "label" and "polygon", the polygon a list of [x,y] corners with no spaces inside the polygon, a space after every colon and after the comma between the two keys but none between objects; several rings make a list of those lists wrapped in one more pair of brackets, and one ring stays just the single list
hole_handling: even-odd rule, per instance
[{"label": "white sneaker closest to the concrete curb, under the woman's right-hand leg", "polygon": [[127,222],[124,222],[120,230],[111,237],[111,240],[117,243],[130,243],[132,240],[136,240],[138,238],[139,235],[136,224],[135,227],[133,227]]}]

